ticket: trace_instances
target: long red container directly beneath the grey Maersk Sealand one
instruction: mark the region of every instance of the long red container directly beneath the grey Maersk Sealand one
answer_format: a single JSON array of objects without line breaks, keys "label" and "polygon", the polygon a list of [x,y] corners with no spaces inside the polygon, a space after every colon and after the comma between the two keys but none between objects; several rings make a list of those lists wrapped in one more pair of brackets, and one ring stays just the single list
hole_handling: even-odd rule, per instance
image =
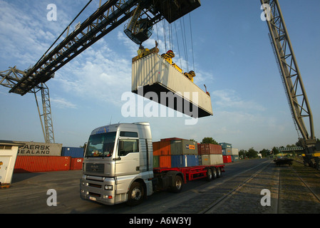
[{"label": "long red container directly beneath the grey Maersk Sealand one", "polygon": [[14,172],[50,172],[70,170],[71,157],[17,156]]}]

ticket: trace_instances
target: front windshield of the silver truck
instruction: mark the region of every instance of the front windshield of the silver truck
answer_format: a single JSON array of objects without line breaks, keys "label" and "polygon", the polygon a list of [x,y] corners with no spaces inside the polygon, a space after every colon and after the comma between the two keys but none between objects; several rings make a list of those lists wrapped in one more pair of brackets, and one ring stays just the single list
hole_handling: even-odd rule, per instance
[{"label": "front windshield of the silver truck", "polygon": [[86,157],[110,157],[115,146],[115,132],[90,135]]}]

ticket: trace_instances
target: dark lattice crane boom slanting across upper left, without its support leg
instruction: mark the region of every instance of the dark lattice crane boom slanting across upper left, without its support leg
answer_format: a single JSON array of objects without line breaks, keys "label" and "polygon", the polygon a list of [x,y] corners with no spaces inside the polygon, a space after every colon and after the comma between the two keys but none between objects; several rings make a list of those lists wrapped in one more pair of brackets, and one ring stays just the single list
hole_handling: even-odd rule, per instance
[{"label": "dark lattice crane boom slanting across upper left, without its support leg", "polygon": [[[25,95],[39,83],[46,83],[50,78],[53,78],[54,73],[59,68],[66,65],[114,28],[130,19],[138,6],[143,6],[143,15],[148,19],[148,24],[152,26],[164,19],[167,14],[174,15],[174,19],[180,18],[200,6],[200,1],[108,0],[89,16],[79,28],[66,36],[56,48],[53,48],[35,66],[26,71],[24,77],[9,90],[9,93]],[[171,18],[167,20],[172,21]]]}]

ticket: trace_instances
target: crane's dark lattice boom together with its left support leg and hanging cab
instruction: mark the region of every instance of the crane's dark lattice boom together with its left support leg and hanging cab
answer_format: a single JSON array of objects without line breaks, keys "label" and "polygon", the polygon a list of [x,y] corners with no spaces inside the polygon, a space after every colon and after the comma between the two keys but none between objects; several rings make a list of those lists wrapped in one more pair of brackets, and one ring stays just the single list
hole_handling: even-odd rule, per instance
[{"label": "crane's dark lattice boom together with its left support leg and hanging cab", "polygon": [[[20,95],[34,93],[36,96],[41,91],[43,114],[39,108],[38,111],[41,125],[43,122],[45,125],[43,135],[46,142],[54,142],[46,81],[53,78],[58,69],[130,18],[125,33],[135,43],[142,43],[150,37],[153,25],[162,19],[172,23],[199,6],[200,0],[108,0],[105,4],[101,4],[100,0],[98,9],[74,31],[67,33],[56,47],[49,48],[50,52],[47,51],[33,67],[27,71],[14,67],[0,72],[0,84],[10,88],[9,93]],[[65,31],[68,32],[69,28]]]}]

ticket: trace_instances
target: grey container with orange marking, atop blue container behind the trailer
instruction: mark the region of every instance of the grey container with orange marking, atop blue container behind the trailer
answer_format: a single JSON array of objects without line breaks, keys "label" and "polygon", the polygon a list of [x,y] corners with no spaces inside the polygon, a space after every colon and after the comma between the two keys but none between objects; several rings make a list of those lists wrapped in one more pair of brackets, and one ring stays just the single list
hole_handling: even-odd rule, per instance
[{"label": "grey container with orange marking, atop blue container behind the trailer", "polygon": [[198,155],[197,142],[173,140],[171,141],[171,155]]}]

